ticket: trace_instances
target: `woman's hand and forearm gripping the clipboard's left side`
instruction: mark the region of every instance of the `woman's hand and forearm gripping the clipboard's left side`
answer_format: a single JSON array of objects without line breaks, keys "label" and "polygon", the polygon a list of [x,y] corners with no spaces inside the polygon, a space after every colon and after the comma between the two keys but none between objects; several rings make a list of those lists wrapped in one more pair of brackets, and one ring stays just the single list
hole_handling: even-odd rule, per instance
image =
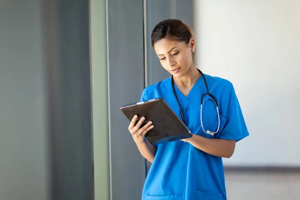
[{"label": "woman's hand and forearm gripping the clipboard's left side", "polygon": [[134,126],[136,119],[137,116],[135,115],[128,126],[128,130],[130,131],[140,154],[149,162],[153,162],[157,150],[156,146],[145,139],[145,134],[153,128],[153,125],[151,125],[152,122],[149,121],[144,126],[140,127],[145,120],[145,117],[142,117]]}]

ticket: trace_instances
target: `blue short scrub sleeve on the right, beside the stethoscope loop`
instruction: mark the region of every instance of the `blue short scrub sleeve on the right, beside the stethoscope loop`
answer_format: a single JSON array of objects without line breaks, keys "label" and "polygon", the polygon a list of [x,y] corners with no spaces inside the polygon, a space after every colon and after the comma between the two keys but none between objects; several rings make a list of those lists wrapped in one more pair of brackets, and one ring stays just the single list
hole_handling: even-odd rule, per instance
[{"label": "blue short scrub sleeve on the right, beside the stethoscope loop", "polygon": [[239,141],[240,139],[248,136],[249,132],[232,84],[229,99],[222,106],[222,113],[226,116],[224,127],[218,135],[218,138]]}]

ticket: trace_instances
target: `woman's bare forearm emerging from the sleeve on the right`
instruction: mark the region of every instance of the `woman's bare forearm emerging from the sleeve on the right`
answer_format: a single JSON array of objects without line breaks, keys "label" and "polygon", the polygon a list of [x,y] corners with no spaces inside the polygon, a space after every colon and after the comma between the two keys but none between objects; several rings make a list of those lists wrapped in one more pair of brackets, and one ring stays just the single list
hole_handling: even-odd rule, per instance
[{"label": "woman's bare forearm emerging from the sleeve on the right", "polygon": [[231,157],[235,148],[235,140],[211,139],[196,134],[186,141],[208,154],[219,157]]}]

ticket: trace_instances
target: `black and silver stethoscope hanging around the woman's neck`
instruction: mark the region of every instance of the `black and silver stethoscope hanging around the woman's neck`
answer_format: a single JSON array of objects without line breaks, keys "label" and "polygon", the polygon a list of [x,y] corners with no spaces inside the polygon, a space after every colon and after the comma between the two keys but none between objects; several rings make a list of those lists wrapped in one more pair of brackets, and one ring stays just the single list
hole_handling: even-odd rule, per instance
[{"label": "black and silver stethoscope hanging around the woman's neck", "polygon": [[[207,85],[206,78],[205,78],[204,74],[202,73],[202,71],[201,71],[200,69],[197,69],[197,70],[201,73],[201,75],[202,75],[202,77],[203,77],[203,79],[204,79],[204,82],[205,82],[205,86],[206,86],[206,92],[203,93],[203,94],[201,95],[200,122],[201,122],[201,126],[202,126],[203,132],[205,132],[205,133],[207,133],[207,134],[210,134],[210,135],[213,135],[213,134],[215,134],[215,133],[218,132],[219,127],[220,127],[220,116],[219,116],[219,112],[218,112],[218,104],[217,104],[216,98],[215,98],[211,93],[209,93],[208,85]],[[174,88],[174,80],[173,80],[173,76],[172,76],[172,75],[171,75],[171,85],[172,85],[172,90],[173,90],[174,96],[175,96],[176,101],[177,101],[177,103],[178,103],[178,105],[179,105],[179,109],[180,109],[180,114],[181,114],[182,121],[183,121],[183,123],[185,124],[185,119],[184,119],[184,116],[183,116],[182,108],[181,108],[181,105],[180,105],[180,103],[179,103],[179,100],[178,100],[177,95],[176,95],[176,92],[175,92],[175,88]],[[203,100],[203,97],[204,97],[205,95],[209,95],[210,97],[204,98],[204,100]],[[203,107],[203,103],[204,103],[204,101],[205,101],[206,99],[211,99],[211,100],[213,100],[213,102],[214,102],[214,104],[215,104],[215,107],[216,107],[217,119],[218,119],[218,125],[217,125],[217,129],[216,129],[215,132],[212,132],[212,131],[210,131],[210,130],[206,130],[206,131],[204,130],[204,126],[203,126],[203,122],[202,122],[202,107]]]}]

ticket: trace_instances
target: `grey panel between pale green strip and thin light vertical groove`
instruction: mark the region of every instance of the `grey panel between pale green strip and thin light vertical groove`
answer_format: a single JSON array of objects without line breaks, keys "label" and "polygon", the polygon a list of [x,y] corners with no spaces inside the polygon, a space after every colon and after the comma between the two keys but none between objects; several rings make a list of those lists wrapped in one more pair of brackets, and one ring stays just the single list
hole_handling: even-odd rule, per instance
[{"label": "grey panel between pale green strip and thin light vertical groove", "polygon": [[144,88],[142,0],[106,0],[111,199],[141,198],[145,159],[120,106],[139,101]]}]

